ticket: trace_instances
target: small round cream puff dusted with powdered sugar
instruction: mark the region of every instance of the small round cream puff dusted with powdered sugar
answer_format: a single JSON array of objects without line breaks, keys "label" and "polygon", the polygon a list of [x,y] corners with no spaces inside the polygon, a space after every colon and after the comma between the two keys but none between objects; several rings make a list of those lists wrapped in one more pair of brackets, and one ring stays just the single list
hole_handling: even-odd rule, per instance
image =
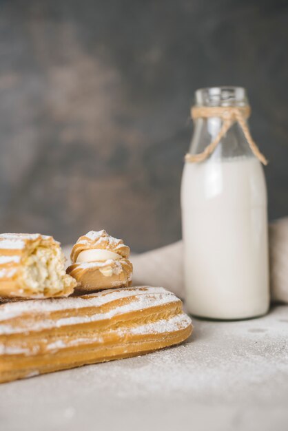
[{"label": "small round cream puff dusted with powdered sugar", "polygon": [[79,238],[71,252],[67,273],[81,291],[130,286],[133,266],[130,248],[105,231],[90,231]]}]

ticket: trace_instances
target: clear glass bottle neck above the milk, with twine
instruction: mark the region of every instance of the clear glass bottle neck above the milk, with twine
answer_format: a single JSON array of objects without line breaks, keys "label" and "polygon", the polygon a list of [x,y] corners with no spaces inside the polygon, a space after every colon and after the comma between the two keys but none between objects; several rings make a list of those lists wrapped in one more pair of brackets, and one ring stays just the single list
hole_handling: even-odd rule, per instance
[{"label": "clear glass bottle neck above the milk, with twine", "polygon": [[[198,163],[208,158],[256,157],[267,165],[267,159],[249,132],[247,118],[251,109],[243,88],[197,90],[196,102],[198,105],[192,107],[195,130],[189,154],[185,156],[187,162]],[[202,105],[199,105],[200,102]]]}]

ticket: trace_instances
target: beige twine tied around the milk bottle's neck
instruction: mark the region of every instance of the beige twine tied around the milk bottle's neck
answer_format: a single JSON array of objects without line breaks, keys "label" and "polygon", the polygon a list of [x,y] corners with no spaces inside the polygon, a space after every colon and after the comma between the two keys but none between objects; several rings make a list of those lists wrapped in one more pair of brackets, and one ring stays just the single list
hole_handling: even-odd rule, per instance
[{"label": "beige twine tied around the milk bottle's neck", "polygon": [[254,156],[256,156],[258,160],[263,163],[263,165],[267,165],[267,158],[265,158],[265,156],[260,152],[249,132],[246,119],[249,118],[250,114],[251,108],[249,106],[193,106],[191,108],[191,116],[194,120],[196,120],[197,118],[219,117],[221,118],[221,120],[223,120],[223,125],[220,128],[220,131],[218,132],[217,136],[214,138],[214,140],[212,140],[212,143],[207,145],[203,153],[186,154],[185,161],[194,163],[203,162],[204,160],[206,160],[206,158],[213,153],[214,149],[216,149],[218,143],[223,138],[223,136],[225,136],[232,124],[238,122]]}]

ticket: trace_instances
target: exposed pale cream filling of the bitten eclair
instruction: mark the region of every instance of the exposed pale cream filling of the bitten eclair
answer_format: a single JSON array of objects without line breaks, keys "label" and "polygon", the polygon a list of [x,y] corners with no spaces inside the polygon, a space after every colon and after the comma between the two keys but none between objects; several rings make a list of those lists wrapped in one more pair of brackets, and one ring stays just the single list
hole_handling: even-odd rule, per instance
[{"label": "exposed pale cream filling of the bitten eclair", "polygon": [[33,291],[50,293],[63,290],[67,275],[63,264],[63,256],[58,249],[38,247],[28,256],[23,269],[23,278]]}]

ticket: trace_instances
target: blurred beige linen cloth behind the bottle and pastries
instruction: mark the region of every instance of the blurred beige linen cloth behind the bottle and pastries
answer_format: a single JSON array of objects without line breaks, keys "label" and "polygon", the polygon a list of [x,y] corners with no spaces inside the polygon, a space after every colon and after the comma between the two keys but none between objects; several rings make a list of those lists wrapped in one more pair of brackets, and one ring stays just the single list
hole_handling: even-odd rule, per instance
[{"label": "blurred beige linen cloth behind the bottle and pastries", "polygon": [[[69,257],[71,247],[64,252]],[[288,303],[288,217],[269,224],[271,299]],[[133,284],[163,286],[184,297],[183,242],[131,256]]]}]

